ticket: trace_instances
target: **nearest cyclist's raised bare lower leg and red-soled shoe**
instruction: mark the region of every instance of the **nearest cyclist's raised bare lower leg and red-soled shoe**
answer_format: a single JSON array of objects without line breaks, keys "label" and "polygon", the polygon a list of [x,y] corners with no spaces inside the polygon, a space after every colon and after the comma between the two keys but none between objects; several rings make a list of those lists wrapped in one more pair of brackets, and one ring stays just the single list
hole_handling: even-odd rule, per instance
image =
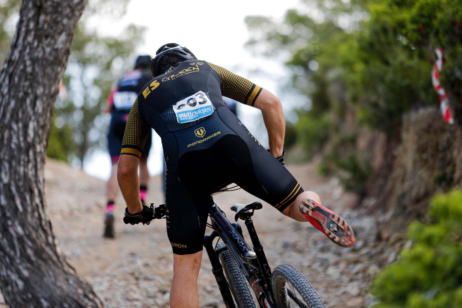
[{"label": "nearest cyclist's raised bare lower leg and red-soled shoe", "polygon": [[309,221],[337,245],[350,247],[355,242],[353,229],[339,214],[322,206],[315,192],[300,193],[282,213],[298,221]]}]

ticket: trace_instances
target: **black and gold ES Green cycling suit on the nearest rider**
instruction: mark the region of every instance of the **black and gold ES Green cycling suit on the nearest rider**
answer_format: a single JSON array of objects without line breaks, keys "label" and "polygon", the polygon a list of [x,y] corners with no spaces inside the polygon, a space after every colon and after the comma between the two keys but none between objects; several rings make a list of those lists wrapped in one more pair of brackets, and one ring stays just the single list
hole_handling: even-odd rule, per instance
[{"label": "black and gold ES Green cycling suit on the nearest rider", "polygon": [[175,254],[202,250],[210,194],[236,183],[283,211],[303,188],[225,107],[222,95],[253,106],[261,92],[222,67],[187,60],[146,84],[125,130],[121,154],[140,157],[151,127],[167,164],[167,234]]}]

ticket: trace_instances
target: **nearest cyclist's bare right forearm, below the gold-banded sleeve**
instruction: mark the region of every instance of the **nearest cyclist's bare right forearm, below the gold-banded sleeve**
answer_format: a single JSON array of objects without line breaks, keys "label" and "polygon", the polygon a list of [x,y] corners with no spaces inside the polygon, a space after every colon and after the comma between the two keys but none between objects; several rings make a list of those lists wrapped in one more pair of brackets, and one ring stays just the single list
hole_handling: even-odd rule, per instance
[{"label": "nearest cyclist's bare right forearm, below the gold-banded sleeve", "polygon": [[262,89],[255,100],[254,107],[260,109],[261,115],[263,115],[263,121],[268,131],[270,153],[274,157],[281,156],[286,134],[286,120],[284,119],[284,112],[279,98]]}]

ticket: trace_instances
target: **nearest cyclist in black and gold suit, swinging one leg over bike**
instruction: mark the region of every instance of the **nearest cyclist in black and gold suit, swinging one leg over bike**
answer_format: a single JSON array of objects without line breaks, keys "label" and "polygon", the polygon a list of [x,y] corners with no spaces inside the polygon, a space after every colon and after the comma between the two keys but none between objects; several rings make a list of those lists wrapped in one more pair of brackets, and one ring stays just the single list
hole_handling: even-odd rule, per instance
[{"label": "nearest cyclist in black and gold suit, swinging one leg over bike", "polygon": [[[138,196],[138,158],[151,127],[167,163],[167,234],[173,249],[170,307],[199,307],[197,276],[210,194],[231,182],[298,221],[309,221],[341,246],[352,229],[319,196],[304,191],[283,166],[285,121],[277,97],[226,69],[166,44],[152,60],[154,79],[139,93],[125,131],[117,178],[127,202],[126,223],[148,222],[152,210]],[[261,110],[265,150],[225,107],[222,95]]]}]

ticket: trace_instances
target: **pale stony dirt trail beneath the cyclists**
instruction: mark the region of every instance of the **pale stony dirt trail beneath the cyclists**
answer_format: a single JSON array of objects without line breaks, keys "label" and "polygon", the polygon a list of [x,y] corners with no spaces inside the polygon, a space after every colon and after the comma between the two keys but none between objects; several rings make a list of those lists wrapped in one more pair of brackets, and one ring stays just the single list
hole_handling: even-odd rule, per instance
[{"label": "pale stony dirt trail beneath the cyclists", "polygon": [[[370,306],[371,278],[379,272],[382,260],[394,260],[396,249],[377,245],[377,218],[354,210],[358,198],[344,192],[336,179],[316,175],[315,163],[287,167],[305,190],[319,193],[324,205],[352,225],[357,242],[353,248],[340,248],[309,223],[293,221],[263,203],[253,220],[270,265],[274,268],[289,263],[297,267],[327,307]],[[59,247],[78,274],[93,285],[106,307],[169,307],[173,261],[165,222],[123,224],[125,205],[119,196],[116,238],[104,239],[105,182],[50,159],[45,166],[45,180],[48,213]],[[159,177],[152,178],[147,200],[163,202],[159,187]],[[228,217],[234,216],[230,210],[234,203],[256,200],[243,190],[221,193],[214,199]],[[204,308],[224,307],[205,253],[199,275],[199,300]],[[0,307],[6,307],[1,296]]]}]

